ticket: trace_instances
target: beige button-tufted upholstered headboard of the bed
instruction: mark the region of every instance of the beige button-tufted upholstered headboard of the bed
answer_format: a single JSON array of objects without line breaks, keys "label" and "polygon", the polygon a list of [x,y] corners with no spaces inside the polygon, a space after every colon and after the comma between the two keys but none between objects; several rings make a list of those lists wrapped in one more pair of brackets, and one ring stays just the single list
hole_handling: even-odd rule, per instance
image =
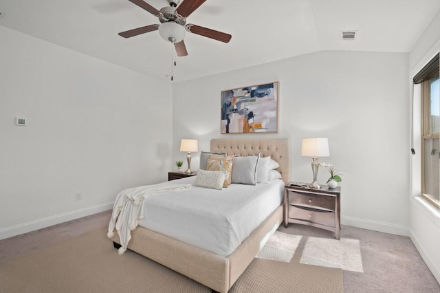
[{"label": "beige button-tufted upholstered headboard of the bed", "polygon": [[211,153],[228,155],[272,156],[280,167],[277,169],[287,184],[290,181],[290,140],[287,138],[212,138]]}]

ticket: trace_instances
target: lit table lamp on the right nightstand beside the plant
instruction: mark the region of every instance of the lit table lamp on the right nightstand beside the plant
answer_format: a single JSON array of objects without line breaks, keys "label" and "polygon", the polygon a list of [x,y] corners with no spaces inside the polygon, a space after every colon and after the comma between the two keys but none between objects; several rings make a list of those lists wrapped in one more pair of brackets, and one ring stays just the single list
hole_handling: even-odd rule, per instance
[{"label": "lit table lamp on the right nightstand beside the plant", "polygon": [[301,155],[311,157],[311,171],[314,173],[314,181],[309,184],[309,188],[320,189],[321,186],[316,181],[318,175],[318,157],[329,157],[329,139],[328,138],[303,138]]}]

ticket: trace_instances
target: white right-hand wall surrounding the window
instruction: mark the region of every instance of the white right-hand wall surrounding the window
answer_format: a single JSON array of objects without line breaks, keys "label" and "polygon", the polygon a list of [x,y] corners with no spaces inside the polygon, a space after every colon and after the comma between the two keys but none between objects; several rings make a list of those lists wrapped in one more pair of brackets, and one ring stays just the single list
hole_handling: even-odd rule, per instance
[{"label": "white right-hand wall surrounding the window", "polygon": [[[421,35],[419,41],[410,52],[410,74],[408,83],[412,83],[412,77],[440,51],[440,11],[437,12],[432,22]],[[409,100],[411,105],[411,100]],[[419,100],[415,100],[415,105],[420,107]],[[415,109],[415,113],[418,110]],[[420,123],[415,119],[415,130],[419,129]],[[416,135],[417,136],[417,135]],[[420,138],[416,137],[417,143],[415,150],[417,155],[410,156],[410,179],[412,188],[410,189],[410,237],[415,243],[417,250],[423,260],[440,282],[440,211],[428,208],[426,201],[421,199],[420,188]]]}]

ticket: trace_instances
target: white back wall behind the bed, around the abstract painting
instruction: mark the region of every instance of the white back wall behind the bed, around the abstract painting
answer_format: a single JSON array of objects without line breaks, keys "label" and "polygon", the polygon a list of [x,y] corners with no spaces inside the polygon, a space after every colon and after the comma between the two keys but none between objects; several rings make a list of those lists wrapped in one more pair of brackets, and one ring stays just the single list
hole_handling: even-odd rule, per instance
[{"label": "white back wall behind the bed, around the abstract painting", "polygon": [[[311,182],[302,138],[328,137],[342,177],[342,224],[408,235],[408,54],[317,52],[173,85],[173,160],[181,138],[209,150],[220,135],[220,91],[280,82],[280,132],[292,141],[292,180]],[[193,154],[197,170],[199,153]],[[185,164],[186,166],[186,164]],[[327,171],[318,181],[325,183]]]}]

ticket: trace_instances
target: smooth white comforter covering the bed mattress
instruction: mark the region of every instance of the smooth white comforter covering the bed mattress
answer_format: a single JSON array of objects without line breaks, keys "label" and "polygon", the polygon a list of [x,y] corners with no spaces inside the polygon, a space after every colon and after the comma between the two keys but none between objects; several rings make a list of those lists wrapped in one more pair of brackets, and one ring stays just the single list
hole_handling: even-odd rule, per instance
[{"label": "smooth white comforter covering the bed mattress", "polygon": [[[164,182],[193,184],[195,177]],[[158,184],[161,185],[161,184]],[[284,183],[231,184],[223,190],[192,186],[144,200],[139,226],[228,257],[283,202]]]}]

